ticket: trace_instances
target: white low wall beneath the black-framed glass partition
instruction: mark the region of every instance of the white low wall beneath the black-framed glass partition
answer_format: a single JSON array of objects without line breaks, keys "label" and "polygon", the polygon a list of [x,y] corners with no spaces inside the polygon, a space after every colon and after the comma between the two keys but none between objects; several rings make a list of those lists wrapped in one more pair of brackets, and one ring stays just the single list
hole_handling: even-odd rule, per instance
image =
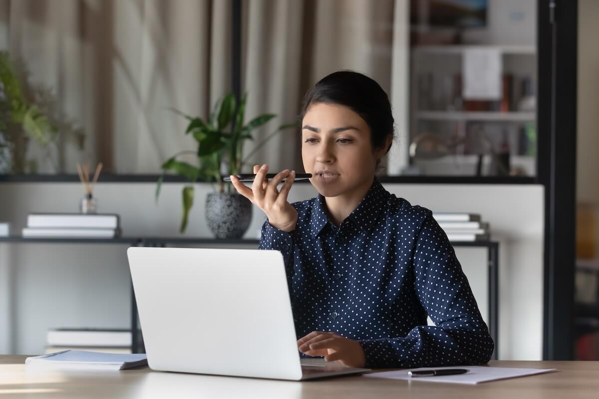
[{"label": "white low wall beneath the black-framed glass partition", "polygon": [[[122,216],[125,236],[178,236],[181,184],[165,184],[158,205],[151,183],[105,183],[96,188],[101,212]],[[543,188],[538,185],[386,184],[413,204],[435,211],[469,211],[491,223],[500,241],[500,358],[540,360],[543,304]],[[205,237],[203,202],[210,185],[196,185],[186,236]],[[290,200],[314,196],[296,184]],[[20,232],[29,212],[76,212],[79,184],[0,184],[0,220]],[[254,209],[248,237],[264,221]],[[43,351],[49,327],[129,325],[130,282],[125,245],[0,244],[0,353]],[[458,249],[483,313],[485,254]],[[479,269],[480,273],[476,273]],[[471,271],[470,271],[471,270]]]}]

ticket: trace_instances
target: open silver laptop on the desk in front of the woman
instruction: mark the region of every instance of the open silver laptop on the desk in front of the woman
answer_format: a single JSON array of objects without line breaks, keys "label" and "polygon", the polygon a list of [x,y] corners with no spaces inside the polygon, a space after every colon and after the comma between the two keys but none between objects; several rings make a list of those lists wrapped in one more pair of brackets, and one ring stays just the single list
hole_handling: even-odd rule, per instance
[{"label": "open silver laptop on the desk in front of the woman", "polygon": [[305,380],[368,371],[300,362],[279,251],[127,251],[153,370]]}]

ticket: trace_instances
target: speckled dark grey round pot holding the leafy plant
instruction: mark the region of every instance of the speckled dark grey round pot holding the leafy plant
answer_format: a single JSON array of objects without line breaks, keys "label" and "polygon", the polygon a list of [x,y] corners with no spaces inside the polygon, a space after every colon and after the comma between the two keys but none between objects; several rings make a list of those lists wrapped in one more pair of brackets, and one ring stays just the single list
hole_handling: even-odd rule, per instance
[{"label": "speckled dark grey round pot holding the leafy plant", "polygon": [[216,238],[241,238],[252,221],[252,202],[237,193],[210,193],[206,221]]}]

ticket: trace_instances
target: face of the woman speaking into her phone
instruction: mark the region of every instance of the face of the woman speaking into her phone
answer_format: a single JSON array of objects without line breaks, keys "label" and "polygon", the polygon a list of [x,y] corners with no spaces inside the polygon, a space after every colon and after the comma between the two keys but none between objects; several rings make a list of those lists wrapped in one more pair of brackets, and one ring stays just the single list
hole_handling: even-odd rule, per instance
[{"label": "face of the woman speaking into her phone", "polygon": [[370,128],[352,109],[315,103],[302,120],[301,154],[310,182],[325,197],[351,194],[373,182],[376,160]]}]

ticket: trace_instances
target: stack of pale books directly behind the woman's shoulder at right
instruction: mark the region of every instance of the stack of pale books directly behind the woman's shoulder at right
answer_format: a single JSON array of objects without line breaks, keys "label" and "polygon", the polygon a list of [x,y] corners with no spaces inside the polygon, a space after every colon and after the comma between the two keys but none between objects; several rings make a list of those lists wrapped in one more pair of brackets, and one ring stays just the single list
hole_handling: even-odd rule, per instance
[{"label": "stack of pale books directly behind the woman's shoulder at right", "polygon": [[489,240],[489,224],[480,221],[480,215],[433,212],[432,217],[450,241]]}]

